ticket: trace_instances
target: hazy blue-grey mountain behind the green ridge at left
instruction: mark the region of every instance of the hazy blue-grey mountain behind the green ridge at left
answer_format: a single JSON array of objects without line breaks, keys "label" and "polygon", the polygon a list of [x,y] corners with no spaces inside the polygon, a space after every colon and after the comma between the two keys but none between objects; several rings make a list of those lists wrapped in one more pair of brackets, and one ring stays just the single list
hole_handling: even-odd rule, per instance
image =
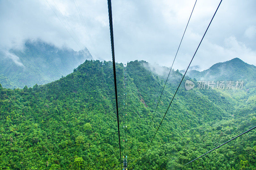
[{"label": "hazy blue-grey mountain behind the green ridge at left", "polygon": [[0,83],[12,89],[50,83],[68,75],[86,59],[92,59],[87,48],[74,51],[28,40],[23,49],[0,51]]}]

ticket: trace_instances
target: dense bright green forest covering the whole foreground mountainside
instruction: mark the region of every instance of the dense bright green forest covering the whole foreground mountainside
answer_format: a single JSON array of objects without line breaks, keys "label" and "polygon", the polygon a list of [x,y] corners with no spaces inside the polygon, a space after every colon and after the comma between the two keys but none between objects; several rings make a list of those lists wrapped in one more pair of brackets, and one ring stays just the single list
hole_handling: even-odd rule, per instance
[{"label": "dense bright green forest covering the whole foreground mountainside", "polygon": [[[255,130],[183,166],[256,125],[255,86],[185,90],[185,80],[196,84],[190,77],[142,159],[182,78],[172,70],[148,131],[166,78],[150,67],[116,63],[120,127],[128,115],[128,169],[256,169]],[[0,85],[0,169],[120,169],[112,62],[86,60],[66,77],[33,88]]]}]

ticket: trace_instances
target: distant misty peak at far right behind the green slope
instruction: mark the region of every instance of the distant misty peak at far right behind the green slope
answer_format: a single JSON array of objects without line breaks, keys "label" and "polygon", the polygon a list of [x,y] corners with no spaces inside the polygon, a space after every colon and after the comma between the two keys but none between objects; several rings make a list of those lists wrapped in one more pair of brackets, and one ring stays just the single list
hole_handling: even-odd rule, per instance
[{"label": "distant misty peak at far right behind the green slope", "polygon": [[[184,70],[180,72],[184,74]],[[218,81],[225,81],[225,83],[231,81],[234,83],[234,86],[236,85],[236,81],[243,81],[242,90],[227,90],[224,87],[219,92],[224,92],[240,102],[247,102],[252,96],[256,96],[256,66],[247,64],[239,58],[234,58],[223,63],[216,63],[209,69],[201,72],[189,70],[187,75],[191,78],[196,78],[197,81],[205,81],[206,84],[208,81],[214,81],[215,88]]]}]

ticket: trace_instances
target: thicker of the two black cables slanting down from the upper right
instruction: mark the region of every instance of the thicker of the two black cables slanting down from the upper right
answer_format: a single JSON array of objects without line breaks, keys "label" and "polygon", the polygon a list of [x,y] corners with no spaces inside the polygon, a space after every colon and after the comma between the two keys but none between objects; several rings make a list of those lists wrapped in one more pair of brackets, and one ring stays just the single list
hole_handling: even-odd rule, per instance
[{"label": "thicker of the two black cables slanting down from the upper right", "polygon": [[[221,4],[221,2],[222,2],[222,0],[220,1],[220,4]],[[204,33],[204,36],[205,36],[205,34],[206,34],[208,28],[210,27],[210,25],[211,25],[211,23],[212,23],[212,20],[213,20],[213,18],[214,18],[214,16],[215,16],[216,12],[218,11],[218,9],[219,9],[219,7],[220,7],[220,4],[218,5],[218,7],[217,7],[217,9],[216,9],[216,11],[215,11],[215,13],[214,13],[214,15],[213,15],[213,17],[212,17],[212,19],[211,19],[211,21],[210,21],[210,23],[209,23],[209,25],[208,25],[208,27],[207,27],[205,33]],[[196,48],[196,52],[197,52],[199,46],[201,45],[201,43],[202,43],[202,41],[203,41],[203,39],[204,39],[204,36],[202,37],[202,39],[201,39],[201,41],[200,41],[198,47]],[[195,54],[193,55],[193,57],[192,57],[192,59],[191,59],[189,65],[188,65],[188,68],[189,68],[190,64],[192,63],[192,61],[193,61],[193,59],[194,59],[194,57],[195,57],[195,55],[196,55],[196,52],[195,52]],[[185,77],[185,75],[186,75],[186,73],[187,73],[187,71],[188,71],[188,68],[187,68],[186,72],[184,73],[184,75],[183,75],[183,77],[182,77],[182,79],[181,79],[181,81],[180,81],[180,84],[182,83],[182,80],[184,79],[184,77]],[[171,103],[170,103],[170,105],[168,106],[168,108],[167,108],[167,110],[166,110],[166,112],[165,112],[165,114],[164,114],[164,117],[165,117],[165,115],[166,115],[166,113],[167,113],[169,107],[170,107],[171,104],[172,104],[172,101],[173,101],[173,99],[174,99],[174,97],[175,97],[175,95],[176,95],[176,93],[177,93],[177,91],[178,91],[178,89],[179,89],[179,87],[180,87],[180,84],[179,84],[179,86],[178,86],[176,92],[174,93],[174,95],[173,95],[173,97],[172,97]],[[158,129],[160,128],[160,126],[161,126],[161,124],[162,124],[162,122],[163,122],[163,120],[164,120],[164,117],[163,117],[161,123],[159,124],[159,126],[158,126],[158,128],[157,128],[157,130],[156,130],[156,133],[157,133]],[[151,140],[151,142],[150,142],[150,144],[149,144],[149,146],[148,146],[148,149],[149,149],[149,147],[151,146],[152,141],[154,140],[154,138],[155,138],[155,136],[156,136],[156,133],[155,133],[153,139]],[[147,152],[148,152],[148,150],[147,150]],[[144,155],[144,157],[143,157],[142,160],[144,160],[144,158],[145,158],[147,152],[145,153],[145,155]]]}]

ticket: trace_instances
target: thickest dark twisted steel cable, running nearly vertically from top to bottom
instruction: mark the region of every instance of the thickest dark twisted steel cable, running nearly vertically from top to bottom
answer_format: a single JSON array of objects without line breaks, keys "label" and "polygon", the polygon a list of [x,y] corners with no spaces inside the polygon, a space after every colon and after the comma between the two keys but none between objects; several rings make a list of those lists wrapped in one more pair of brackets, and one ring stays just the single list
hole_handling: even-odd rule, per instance
[{"label": "thickest dark twisted steel cable, running nearly vertically from top to bottom", "polygon": [[117,126],[118,126],[119,153],[120,153],[120,163],[121,163],[121,170],[122,170],[121,143],[120,143],[120,130],[119,130],[119,115],[118,115],[118,102],[117,102],[117,86],[116,86],[116,63],[115,63],[115,50],[114,50],[114,35],[113,35],[111,0],[108,0],[108,18],[109,18],[109,30],[110,30],[110,41],[111,41],[111,51],[112,51],[113,73],[114,73],[114,82],[115,82],[115,93],[116,93],[116,116],[117,116]]}]

